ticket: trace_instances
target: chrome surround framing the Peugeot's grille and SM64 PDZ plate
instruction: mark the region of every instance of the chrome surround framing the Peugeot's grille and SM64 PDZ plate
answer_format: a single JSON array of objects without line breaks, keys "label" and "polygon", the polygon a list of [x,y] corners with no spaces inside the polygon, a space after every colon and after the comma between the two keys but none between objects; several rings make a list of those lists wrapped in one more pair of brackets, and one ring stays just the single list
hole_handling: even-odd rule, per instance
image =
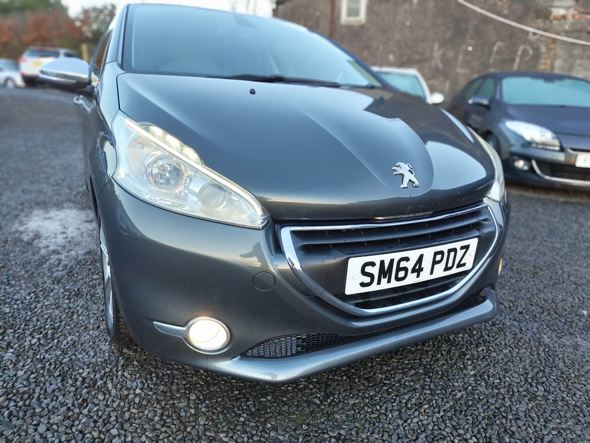
[{"label": "chrome surround framing the Peugeot's grille and SM64 PDZ plate", "polygon": [[[314,230],[346,230],[346,229],[372,229],[372,228],[380,228],[380,227],[395,227],[395,226],[402,226],[408,224],[416,224],[416,223],[428,223],[434,222],[436,220],[443,220],[450,217],[461,216],[464,214],[469,214],[474,211],[485,209],[489,211],[491,220],[494,224],[494,239],[491,242],[491,245],[487,249],[483,258],[479,260],[476,266],[470,269],[468,273],[455,284],[450,289],[442,291],[438,294],[431,295],[429,297],[424,297],[420,299],[415,299],[412,301],[395,304],[386,307],[380,308],[372,308],[372,309],[363,309],[358,308],[356,306],[350,305],[345,301],[335,297],[335,295],[331,294],[330,292],[323,289],[320,285],[318,285],[308,274],[304,271],[299,258],[297,258],[297,253],[295,249],[295,245],[293,243],[293,236],[291,233],[296,231],[314,231]],[[479,269],[486,263],[487,259],[491,255],[491,252],[494,250],[494,247],[497,244],[497,240],[499,237],[499,227],[496,221],[496,217],[494,217],[493,211],[490,209],[489,205],[486,203],[478,203],[473,206],[469,206],[463,209],[458,209],[454,211],[449,211],[446,213],[437,214],[431,217],[425,218],[418,218],[418,219],[409,219],[409,220],[399,220],[396,222],[389,222],[389,223],[351,223],[351,224],[334,224],[334,225],[322,225],[322,226],[284,226],[280,228],[280,240],[281,240],[281,247],[283,247],[283,252],[287,258],[287,262],[293,273],[299,278],[299,280],[309,289],[312,294],[316,295],[323,301],[329,303],[330,305],[342,310],[348,314],[356,315],[358,317],[370,317],[373,315],[381,315],[381,314],[388,314],[390,312],[401,311],[412,307],[417,307],[419,305],[427,304],[436,300],[440,300],[446,297],[450,297],[453,295],[458,289],[461,289],[463,286],[466,286],[470,281],[471,277],[475,275]]]}]

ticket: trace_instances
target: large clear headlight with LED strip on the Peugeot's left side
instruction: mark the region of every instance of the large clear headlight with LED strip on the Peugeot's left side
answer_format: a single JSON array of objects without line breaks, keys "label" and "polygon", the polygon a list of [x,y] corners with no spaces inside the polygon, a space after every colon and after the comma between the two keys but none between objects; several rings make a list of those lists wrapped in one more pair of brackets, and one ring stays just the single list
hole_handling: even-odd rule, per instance
[{"label": "large clear headlight with LED strip on the Peugeot's left side", "polygon": [[248,191],[206,167],[199,155],[150,123],[114,118],[114,180],[155,206],[199,219],[262,229],[264,207]]}]

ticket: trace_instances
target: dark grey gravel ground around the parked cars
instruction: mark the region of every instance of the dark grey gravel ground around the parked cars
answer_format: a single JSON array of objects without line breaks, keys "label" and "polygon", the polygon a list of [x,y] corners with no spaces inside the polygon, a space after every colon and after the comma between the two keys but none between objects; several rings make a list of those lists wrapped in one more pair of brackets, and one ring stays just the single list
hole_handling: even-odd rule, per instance
[{"label": "dark grey gravel ground around the parked cars", "polygon": [[0,90],[0,443],[590,439],[589,194],[510,188],[493,321],[245,382],[109,343],[71,98]]}]

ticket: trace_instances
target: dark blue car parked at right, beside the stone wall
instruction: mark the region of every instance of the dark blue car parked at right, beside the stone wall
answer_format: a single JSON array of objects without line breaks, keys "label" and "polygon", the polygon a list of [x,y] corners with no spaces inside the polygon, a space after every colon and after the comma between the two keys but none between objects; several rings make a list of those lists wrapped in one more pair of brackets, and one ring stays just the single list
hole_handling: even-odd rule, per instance
[{"label": "dark blue car parked at right, beside the stone wall", "polygon": [[590,82],[490,73],[468,83],[449,110],[499,152],[507,179],[590,189]]}]

